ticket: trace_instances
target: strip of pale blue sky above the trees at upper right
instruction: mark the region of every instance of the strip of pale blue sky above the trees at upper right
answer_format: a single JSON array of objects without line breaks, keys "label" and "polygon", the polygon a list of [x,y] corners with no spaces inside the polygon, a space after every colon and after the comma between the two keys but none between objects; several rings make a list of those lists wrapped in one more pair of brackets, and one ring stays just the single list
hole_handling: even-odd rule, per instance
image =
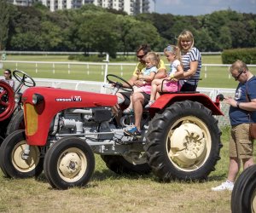
[{"label": "strip of pale blue sky above the trees at upper right", "polygon": [[151,0],[150,8],[158,14],[175,15],[212,14],[226,9],[256,14],[256,0]]}]

